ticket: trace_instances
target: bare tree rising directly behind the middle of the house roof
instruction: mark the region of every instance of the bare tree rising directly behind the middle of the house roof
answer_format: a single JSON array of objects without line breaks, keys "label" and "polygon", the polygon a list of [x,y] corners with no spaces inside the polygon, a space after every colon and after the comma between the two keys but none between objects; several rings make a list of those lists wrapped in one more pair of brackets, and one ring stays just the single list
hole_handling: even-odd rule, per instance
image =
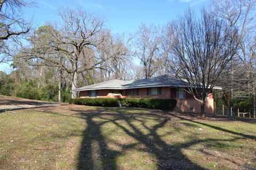
[{"label": "bare tree rising directly behind the middle of the house roof", "polygon": [[154,25],[147,27],[142,24],[136,32],[134,46],[136,56],[143,66],[145,78],[153,77],[164,64],[161,54],[163,45],[160,29]]}]

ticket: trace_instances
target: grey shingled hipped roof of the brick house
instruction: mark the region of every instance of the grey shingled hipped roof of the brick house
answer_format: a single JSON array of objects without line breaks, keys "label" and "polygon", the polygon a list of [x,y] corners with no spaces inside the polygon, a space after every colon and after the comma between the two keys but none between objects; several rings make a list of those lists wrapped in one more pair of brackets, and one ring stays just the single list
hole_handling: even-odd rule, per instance
[{"label": "grey shingled hipped roof of the brick house", "polygon": [[[101,90],[101,89],[135,89],[135,88],[149,88],[149,87],[188,87],[189,84],[186,81],[171,77],[169,75],[161,75],[156,78],[142,79],[142,80],[109,80],[97,84],[92,84],[90,86],[84,86],[76,88],[71,91],[85,91],[85,90]],[[215,87],[215,89],[221,89],[220,87]]]}]

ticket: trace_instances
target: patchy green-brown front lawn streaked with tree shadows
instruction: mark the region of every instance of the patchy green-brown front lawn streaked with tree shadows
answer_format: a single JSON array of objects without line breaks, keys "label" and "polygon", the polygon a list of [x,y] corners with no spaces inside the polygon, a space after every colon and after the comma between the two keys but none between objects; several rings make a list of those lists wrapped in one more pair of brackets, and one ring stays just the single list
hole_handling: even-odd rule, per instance
[{"label": "patchy green-brown front lawn streaked with tree shadows", "polygon": [[76,105],[0,114],[0,169],[256,168],[256,120]]}]

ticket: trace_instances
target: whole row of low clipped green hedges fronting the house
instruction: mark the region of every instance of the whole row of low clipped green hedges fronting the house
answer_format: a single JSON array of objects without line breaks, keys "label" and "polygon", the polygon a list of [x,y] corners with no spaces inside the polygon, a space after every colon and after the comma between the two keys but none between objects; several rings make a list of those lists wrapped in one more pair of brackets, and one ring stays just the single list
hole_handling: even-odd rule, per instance
[{"label": "whole row of low clipped green hedges fronting the house", "polygon": [[[152,108],[162,110],[172,110],[176,106],[175,99],[149,99],[149,98],[126,98],[121,99],[122,106]],[[86,106],[103,106],[116,107],[119,106],[119,99],[114,98],[78,98],[74,99],[73,104]]]}]

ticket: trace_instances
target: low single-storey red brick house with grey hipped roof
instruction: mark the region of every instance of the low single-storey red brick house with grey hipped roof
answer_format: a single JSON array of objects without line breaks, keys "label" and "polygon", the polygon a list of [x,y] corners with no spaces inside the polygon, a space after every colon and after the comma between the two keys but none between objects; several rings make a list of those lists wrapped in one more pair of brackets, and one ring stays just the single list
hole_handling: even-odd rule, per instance
[{"label": "low single-storey red brick house with grey hipped roof", "polygon": [[[109,80],[90,86],[72,90],[77,92],[79,98],[154,98],[177,99],[176,108],[182,112],[200,112],[200,103],[184,89],[188,87],[186,81],[162,75],[142,80]],[[215,87],[214,89],[221,89]],[[205,113],[214,113],[213,95],[205,103]]]}]

